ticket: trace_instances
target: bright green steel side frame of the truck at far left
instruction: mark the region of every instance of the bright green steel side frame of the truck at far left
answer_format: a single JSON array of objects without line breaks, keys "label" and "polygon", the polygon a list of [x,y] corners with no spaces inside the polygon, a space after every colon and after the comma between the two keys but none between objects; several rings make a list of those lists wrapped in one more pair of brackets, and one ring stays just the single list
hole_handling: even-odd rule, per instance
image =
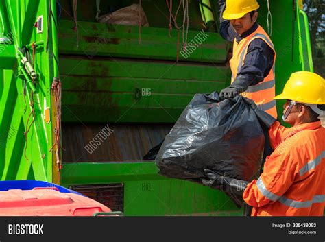
[{"label": "bright green steel side frame of the truck at far left", "polygon": [[[45,4],[44,4],[45,3]],[[58,75],[58,66],[53,56],[58,56],[56,30],[47,32],[49,4],[52,4],[53,15],[56,16],[56,1],[40,0],[1,0],[2,19],[8,21],[7,32],[13,36],[12,45],[1,45],[5,48],[0,53],[0,179],[23,180],[36,179],[53,181],[56,171],[53,169],[53,123],[45,123],[44,110],[51,105],[51,83],[54,75]],[[36,16],[43,16],[43,32],[36,34],[33,27]],[[46,46],[38,47],[35,53],[34,69],[36,93],[34,93],[35,120],[30,131],[25,135],[27,126],[32,121],[31,90],[24,90],[21,75],[21,57],[18,49],[40,40],[49,40],[49,51]],[[29,45],[30,46],[30,45]],[[32,49],[30,49],[32,53]]]}]

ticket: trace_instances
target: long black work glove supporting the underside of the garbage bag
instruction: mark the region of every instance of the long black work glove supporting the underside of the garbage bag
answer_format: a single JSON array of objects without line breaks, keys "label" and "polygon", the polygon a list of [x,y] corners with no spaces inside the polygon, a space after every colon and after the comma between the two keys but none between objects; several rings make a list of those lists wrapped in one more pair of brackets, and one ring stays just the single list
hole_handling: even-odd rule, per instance
[{"label": "long black work glove supporting the underside of the garbage bag", "polygon": [[202,179],[202,184],[205,186],[210,186],[213,189],[219,189],[228,194],[243,196],[243,192],[245,191],[246,186],[250,183],[243,180],[221,176],[218,173],[215,173],[215,171],[211,171],[210,169],[204,169],[204,174],[208,180]]}]

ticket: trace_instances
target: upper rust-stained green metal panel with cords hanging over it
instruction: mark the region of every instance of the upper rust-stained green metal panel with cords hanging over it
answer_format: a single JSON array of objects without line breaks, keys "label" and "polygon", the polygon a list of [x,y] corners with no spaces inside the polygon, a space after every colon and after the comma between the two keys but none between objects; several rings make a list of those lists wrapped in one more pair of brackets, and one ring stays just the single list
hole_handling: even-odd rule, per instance
[{"label": "upper rust-stained green metal panel with cords hanging over it", "polygon": [[[143,27],[141,43],[139,29],[136,26],[106,25],[103,23],[78,22],[78,32],[73,31],[73,21],[61,20],[58,28],[60,54],[93,56],[143,58],[156,60],[174,60],[177,56],[177,43],[182,49],[182,38],[178,40],[177,30],[169,37],[166,29]],[[200,38],[199,38],[200,37]],[[182,56],[180,60],[226,63],[229,43],[217,33],[189,31],[188,40],[197,40],[195,51]],[[188,47],[190,48],[190,47]]]}]

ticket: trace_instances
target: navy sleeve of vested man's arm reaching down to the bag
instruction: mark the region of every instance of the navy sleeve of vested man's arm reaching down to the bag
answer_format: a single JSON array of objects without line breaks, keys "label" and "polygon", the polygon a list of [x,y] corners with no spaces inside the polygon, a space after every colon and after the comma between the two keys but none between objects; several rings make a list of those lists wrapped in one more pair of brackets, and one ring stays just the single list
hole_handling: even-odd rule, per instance
[{"label": "navy sleeve of vested man's arm reaching down to the bag", "polygon": [[273,49],[261,38],[254,39],[248,46],[244,64],[231,86],[246,90],[248,86],[262,82],[269,75],[273,62]]}]

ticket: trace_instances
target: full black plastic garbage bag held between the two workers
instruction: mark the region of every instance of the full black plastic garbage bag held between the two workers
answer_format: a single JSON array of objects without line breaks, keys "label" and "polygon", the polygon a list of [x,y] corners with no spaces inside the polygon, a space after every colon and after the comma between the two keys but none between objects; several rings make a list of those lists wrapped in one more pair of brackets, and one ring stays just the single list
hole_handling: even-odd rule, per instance
[{"label": "full black plastic garbage bag held between the two workers", "polygon": [[[261,169],[264,140],[243,97],[219,101],[217,93],[197,94],[165,137],[156,165],[163,176],[194,182],[206,178],[204,169],[250,181]],[[238,197],[230,197],[241,205]]]}]

